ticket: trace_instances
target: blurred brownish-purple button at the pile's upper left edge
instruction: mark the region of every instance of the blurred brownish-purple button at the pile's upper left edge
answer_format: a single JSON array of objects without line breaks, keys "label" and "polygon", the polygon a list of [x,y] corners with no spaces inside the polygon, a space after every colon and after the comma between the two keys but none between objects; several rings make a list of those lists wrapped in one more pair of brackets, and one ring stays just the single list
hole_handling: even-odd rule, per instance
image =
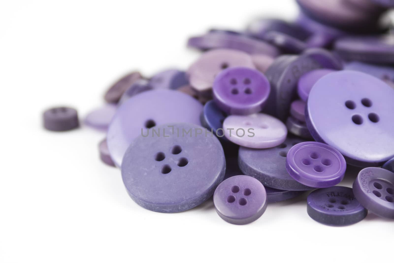
[{"label": "blurred brownish-purple button at the pile's upper left edge", "polygon": [[130,88],[130,86],[141,79],[142,76],[139,72],[132,72],[123,76],[120,80],[115,82],[109,90],[105,93],[104,99],[108,103],[118,103],[119,99],[122,97],[123,93]]}]

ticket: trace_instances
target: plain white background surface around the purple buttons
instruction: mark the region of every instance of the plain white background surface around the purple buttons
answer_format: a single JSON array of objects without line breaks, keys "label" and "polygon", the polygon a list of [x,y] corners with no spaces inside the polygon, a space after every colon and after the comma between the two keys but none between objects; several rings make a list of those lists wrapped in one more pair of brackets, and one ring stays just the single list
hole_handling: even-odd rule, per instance
[{"label": "plain white background surface around the purple buttons", "polygon": [[307,215],[307,195],[270,204],[246,226],[224,222],[212,201],[147,211],[99,160],[104,134],[42,128],[45,108],[66,104],[83,117],[128,71],[186,69],[198,57],[190,35],[296,14],[292,0],[2,0],[0,262],[393,262],[394,221],[370,213],[324,226]]}]

